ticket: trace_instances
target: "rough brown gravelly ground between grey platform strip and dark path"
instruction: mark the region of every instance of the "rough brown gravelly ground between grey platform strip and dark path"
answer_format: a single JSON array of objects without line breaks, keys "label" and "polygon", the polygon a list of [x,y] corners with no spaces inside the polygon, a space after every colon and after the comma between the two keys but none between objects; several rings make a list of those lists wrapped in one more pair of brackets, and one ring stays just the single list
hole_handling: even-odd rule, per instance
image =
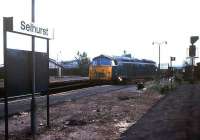
[{"label": "rough brown gravelly ground between grey platform strip and dark path", "polygon": [[[94,91],[98,92],[98,91]],[[135,91],[130,86],[50,108],[51,127],[46,128],[46,109],[38,108],[38,140],[113,140],[135,124],[162,95],[150,90]],[[30,114],[22,112],[9,118],[9,138],[29,140]],[[0,137],[4,121],[0,120]]]}]

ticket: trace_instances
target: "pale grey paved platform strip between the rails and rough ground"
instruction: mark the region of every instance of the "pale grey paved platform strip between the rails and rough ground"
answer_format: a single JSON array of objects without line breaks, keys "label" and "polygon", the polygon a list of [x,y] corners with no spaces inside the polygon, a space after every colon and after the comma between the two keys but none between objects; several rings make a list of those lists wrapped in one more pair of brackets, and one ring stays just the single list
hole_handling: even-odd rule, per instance
[{"label": "pale grey paved platform strip between the rails and rough ground", "polygon": [[[96,96],[98,94],[107,94],[114,91],[120,91],[125,88],[135,88],[133,85],[101,85],[68,92],[59,92],[49,96],[50,106],[57,105],[66,101],[75,101],[89,96]],[[9,116],[19,114],[20,112],[30,111],[31,97],[9,100]],[[36,96],[36,103],[39,107],[46,106],[46,96]],[[4,112],[4,103],[0,102],[0,112]],[[3,113],[0,113],[0,119]]]}]

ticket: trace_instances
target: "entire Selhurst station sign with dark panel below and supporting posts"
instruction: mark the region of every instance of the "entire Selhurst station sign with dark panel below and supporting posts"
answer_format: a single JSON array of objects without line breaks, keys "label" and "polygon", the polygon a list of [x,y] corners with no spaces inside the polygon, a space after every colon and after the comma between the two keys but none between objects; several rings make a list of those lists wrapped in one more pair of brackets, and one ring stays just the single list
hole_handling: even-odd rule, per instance
[{"label": "entire Selhurst station sign with dark panel below and supporting posts", "polygon": [[[28,23],[28,24],[27,24]],[[36,102],[35,93],[43,92],[47,96],[47,126],[49,127],[49,40],[52,39],[50,29],[32,22],[15,20],[13,17],[3,18],[4,45],[4,114],[5,140],[8,140],[8,97],[31,93],[31,131],[36,134]],[[32,51],[7,48],[7,32],[32,37]],[[46,40],[47,51],[35,52],[35,38]],[[17,56],[17,57],[16,57]],[[19,84],[20,81],[20,84]]]}]

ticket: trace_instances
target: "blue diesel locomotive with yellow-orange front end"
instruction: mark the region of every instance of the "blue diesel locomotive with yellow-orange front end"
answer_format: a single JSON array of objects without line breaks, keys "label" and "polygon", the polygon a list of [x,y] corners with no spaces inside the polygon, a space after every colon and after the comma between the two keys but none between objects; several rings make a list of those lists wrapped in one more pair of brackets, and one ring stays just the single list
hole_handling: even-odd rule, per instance
[{"label": "blue diesel locomotive with yellow-orange front end", "polygon": [[146,59],[129,57],[110,57],[100,55],[93,58],[89,67],[90,80],[105,81],[143,81],[153,79],[156,74],[156,63]]}]

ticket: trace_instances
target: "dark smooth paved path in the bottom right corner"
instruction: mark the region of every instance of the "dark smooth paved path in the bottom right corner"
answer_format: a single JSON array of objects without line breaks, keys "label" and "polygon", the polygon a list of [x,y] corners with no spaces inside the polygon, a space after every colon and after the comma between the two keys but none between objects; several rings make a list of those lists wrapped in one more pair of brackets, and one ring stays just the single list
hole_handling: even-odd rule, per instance
[{"label": "dark smooth paved path in the bottom right corner", "polygon": [[182,85],[165,96],[121,140],[200,140],[200,85]]}]

